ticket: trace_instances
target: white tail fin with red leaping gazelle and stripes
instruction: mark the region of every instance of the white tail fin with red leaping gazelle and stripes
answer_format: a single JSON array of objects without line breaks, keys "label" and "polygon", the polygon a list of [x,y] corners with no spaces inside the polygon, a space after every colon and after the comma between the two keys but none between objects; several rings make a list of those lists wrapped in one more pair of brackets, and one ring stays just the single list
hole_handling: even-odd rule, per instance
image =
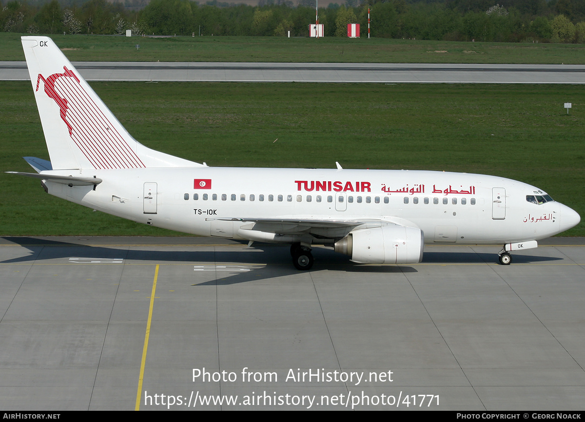
[{"label": "white tail fin with red leaping gazelle and stripes", "polygon": [[49,37],[22,37],[53,170],[193,167],[136,141]]}]

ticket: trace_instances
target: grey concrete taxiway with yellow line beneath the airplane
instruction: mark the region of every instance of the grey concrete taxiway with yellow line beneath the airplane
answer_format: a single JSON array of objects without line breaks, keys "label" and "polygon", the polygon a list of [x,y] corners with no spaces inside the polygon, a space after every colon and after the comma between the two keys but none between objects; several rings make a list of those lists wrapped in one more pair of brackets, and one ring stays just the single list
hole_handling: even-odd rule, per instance
[{"label": "grey concrete taxiway with yellow line beneath the airplane", "polygon": [[498,250],[3,237],[0,407],[583,410],[585,239]]}]

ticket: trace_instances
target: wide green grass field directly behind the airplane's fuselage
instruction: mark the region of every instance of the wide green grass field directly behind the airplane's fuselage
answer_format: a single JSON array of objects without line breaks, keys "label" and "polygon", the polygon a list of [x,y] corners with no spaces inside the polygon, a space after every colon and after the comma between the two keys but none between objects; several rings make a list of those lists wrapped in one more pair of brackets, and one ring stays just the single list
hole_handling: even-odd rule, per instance
[{"label": "wide green grass field directly behind the airplane's fuselage", "polygon": [[[212,166],[479,172],[539,186],[585,216],[585,87],[94,82],[143,144]],[[564,102],[572,102],[567,115]],[[0,82],[2,171],[48,159],[30,82]],[[278,138],[276,143],[273,143]],[[0,174],[2,235],[155,235]],[[585,224],[568,231],[585,236]]]}]

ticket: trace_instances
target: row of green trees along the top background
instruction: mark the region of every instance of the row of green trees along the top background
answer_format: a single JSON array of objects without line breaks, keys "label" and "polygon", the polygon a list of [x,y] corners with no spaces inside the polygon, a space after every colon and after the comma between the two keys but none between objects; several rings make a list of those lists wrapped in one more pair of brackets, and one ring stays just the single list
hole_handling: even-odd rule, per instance
[{"label": "row of green trees along the top background", "polygon": [[[0,30],[18,33],[201,36],[308,36],[314,0],[260,0],[258,6],[217,0],[13,0],[2,3]],[[495,0],[498,1],[498,0]],[[346,36],[360,23],[371,36],[452,41],[585,42],[583,0],[347,0],[318,9],[325,36]]]}]

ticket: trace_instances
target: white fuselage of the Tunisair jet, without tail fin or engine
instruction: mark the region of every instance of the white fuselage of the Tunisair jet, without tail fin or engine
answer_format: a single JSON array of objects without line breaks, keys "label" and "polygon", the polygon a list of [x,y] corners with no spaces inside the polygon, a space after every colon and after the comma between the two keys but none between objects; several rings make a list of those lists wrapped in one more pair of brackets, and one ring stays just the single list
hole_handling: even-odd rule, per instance
[{"label": "white fuselage of the Tunisair jet, without tail fin or engine", "polygon": [[[371,219],[417,227],[425,243],[503,244],[560,233],[576,215],[555,201],[528,202],[526,195],[543,194],[534,186],[466,173],[219,167],[51,173],[103,179],[95,189],[47,181],[60,198],[201,236],[242,238],[238,229],[249,223],[237,220],[247,217]],[[563,214],[573,220],[563,223]]]}]

